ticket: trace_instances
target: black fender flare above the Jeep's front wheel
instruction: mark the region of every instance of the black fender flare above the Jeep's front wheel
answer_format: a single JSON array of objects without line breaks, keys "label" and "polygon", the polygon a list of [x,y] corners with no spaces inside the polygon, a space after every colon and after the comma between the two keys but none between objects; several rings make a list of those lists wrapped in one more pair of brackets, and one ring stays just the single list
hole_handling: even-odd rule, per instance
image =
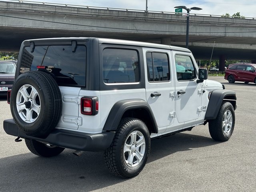
[{"label": "black fender flare above the Jeep's front wheel", "polygon": [[213,90],[206,110],[205,120],[216,119],[223,101],[229,101],[236,110],[236,92],[226,89]]}]

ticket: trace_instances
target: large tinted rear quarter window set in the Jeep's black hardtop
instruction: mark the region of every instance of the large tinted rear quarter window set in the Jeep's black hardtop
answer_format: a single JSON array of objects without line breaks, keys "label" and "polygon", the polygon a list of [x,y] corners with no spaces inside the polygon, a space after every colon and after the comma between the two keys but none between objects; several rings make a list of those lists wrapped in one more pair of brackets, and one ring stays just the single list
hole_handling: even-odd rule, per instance
[{"label": "large tinted rear quarter window set in the Jeep's black hardtop", "polygon": [[105,83],[139,82],[140,65],[136,50],[106,48],[102,60]]}]

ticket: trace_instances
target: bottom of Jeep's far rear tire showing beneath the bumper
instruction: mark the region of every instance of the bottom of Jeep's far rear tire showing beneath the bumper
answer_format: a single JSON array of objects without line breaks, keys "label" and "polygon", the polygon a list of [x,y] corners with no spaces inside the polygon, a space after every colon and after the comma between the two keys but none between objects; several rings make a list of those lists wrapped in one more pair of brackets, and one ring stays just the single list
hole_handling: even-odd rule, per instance
[{"label": "bottom of Jeep's far rear tire showing beneath the bumper", "polygon": [[32,139],[25,139],[26,146],[35,155],[53,157],[60,154],[65,148],[44,144]]}]

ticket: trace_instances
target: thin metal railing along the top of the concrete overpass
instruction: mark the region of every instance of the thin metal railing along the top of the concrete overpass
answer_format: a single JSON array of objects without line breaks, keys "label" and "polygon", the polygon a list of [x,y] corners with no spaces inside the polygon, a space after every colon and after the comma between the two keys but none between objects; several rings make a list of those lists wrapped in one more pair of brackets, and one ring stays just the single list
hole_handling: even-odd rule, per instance
[{"label": "thin metal railing along the top of the concrete overpass", "polygon": [[[56,6],[66,6],[66,7],[79,7],[79,8],[90,8],[90,9],[104,9],[104,10],[120,10],[120,11],[136,11],[136,12],[147,12],[147,13],[162,13],[162,14],[177,14],[175,12],[166,12],[166,11],[146,11],[138,9],[124,9],[124,8],[111,8],[111,7],[97,7],[97,6],[84,6],[84,5],[74,5],[74,4],[60,4],[60,3],[48,3],[48,2],[36,2],[36,1],[26,1],[26,0],[4,0],[6,2],[19,2],[19,3],[33,3],[33,4],[43,4],[43,5],[56,5]],[[182,14],[182,13],[180,13]],[[183,13],[186,15],[186,13]],[[243,18],[243,19],[256,19],[254,17],[245,17],[245,16],[224,16],[224,15],[214,15],[214,14],[192,14],[190,16],[209,16],[209,17],[225,17],[225,18]]]}]

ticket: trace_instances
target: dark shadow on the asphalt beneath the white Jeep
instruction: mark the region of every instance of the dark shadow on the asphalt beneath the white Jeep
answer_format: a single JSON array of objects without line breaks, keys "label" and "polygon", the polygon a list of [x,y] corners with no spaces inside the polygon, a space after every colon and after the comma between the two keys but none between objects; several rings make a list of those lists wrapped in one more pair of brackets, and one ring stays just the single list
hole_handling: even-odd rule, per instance
[{"label": "dark shadow on the asphalt beneath the white Jeep", "polygon": [[[154,139],[151,142],[148,163],[175,152],[218,143],[211,138],[185,133]],[[0,186],[4,191],[88,192],[127,180],[112,176],[108,172],[102,152],[84,152],[77,157],[72,154],[73,151],[66,149],[62,154],[52,158],[38,157],[32,153],[2,158]],[[134,178],[131,180],[136,181]]]}]

